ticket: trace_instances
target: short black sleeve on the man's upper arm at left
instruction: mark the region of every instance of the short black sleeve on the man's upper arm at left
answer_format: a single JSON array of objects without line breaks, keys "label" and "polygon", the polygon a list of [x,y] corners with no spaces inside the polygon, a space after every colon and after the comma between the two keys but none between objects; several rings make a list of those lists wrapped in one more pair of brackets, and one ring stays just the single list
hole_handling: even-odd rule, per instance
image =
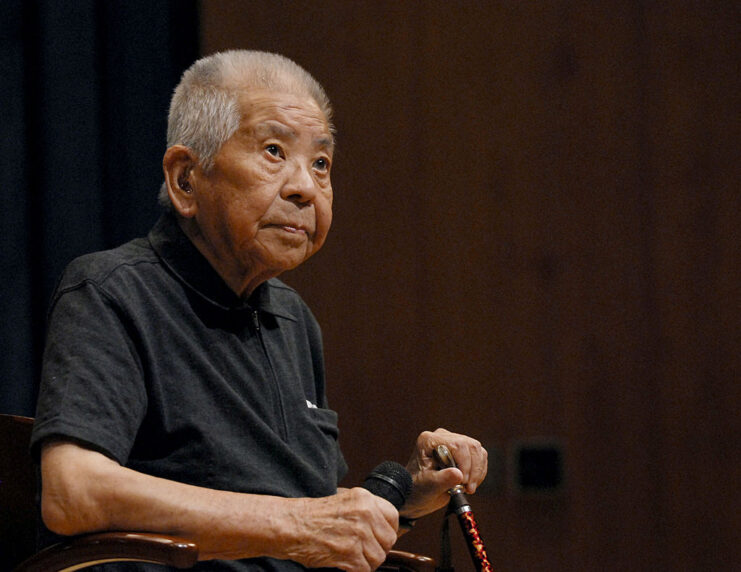
[{"label": "short black sleeve on the man's upper arm at left", "polygon": [[126,462],[147,408],[132,330],[125,311],[96,283],[58,291],[31,440],[35,455],[41,441],[56,436]]}]

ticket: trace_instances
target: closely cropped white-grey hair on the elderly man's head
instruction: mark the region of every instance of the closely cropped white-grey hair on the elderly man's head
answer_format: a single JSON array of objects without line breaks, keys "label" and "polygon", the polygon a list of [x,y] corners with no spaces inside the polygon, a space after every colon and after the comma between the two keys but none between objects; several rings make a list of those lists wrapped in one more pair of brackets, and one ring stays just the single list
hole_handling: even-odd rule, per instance
[{"label": "closely cropped white-grey hair on the elderly man's head", "polygon": [[[167,146],[188,147],[208,171],[221,146],[239,128],[242,117],[238,97],[249,89],[311,97],[334,132],[329,98],[301,66],[278,54],[230,50],[201,58],[183,73],[170,101]],[[165,208],[172,207],[164,184],[159,203]]]}]

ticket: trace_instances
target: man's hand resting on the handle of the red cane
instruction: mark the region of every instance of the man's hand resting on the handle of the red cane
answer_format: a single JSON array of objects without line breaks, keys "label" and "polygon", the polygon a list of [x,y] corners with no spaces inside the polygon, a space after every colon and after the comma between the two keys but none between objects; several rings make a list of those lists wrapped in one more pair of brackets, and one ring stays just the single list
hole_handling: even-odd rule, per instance
[{"label": "man's hand resting on the handle of the red cane", "polygon": [[[432,451],[439,445],[450,450],[457,468],[439,470],[432,456]],[[414,489],[402,508],[402,514],[418,518],[443,508],[450,500],[447,491],[455,485],[463,484],[466,492],[473,494],[486,476],[487,463],[486,449],[476,439],[445,429],[421,433],[407,463]]]}]

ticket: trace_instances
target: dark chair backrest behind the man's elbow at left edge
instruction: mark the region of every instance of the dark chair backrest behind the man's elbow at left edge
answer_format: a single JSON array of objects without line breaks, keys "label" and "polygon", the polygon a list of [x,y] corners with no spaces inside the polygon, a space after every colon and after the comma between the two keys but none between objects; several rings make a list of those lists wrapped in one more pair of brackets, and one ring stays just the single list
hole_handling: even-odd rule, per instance
[{"label": "dark chair backrest behind the man's elbow at left edge", "polygon": [[0,570],[36,549],[37,474],[28,448],[33,419],[0,414]]}]

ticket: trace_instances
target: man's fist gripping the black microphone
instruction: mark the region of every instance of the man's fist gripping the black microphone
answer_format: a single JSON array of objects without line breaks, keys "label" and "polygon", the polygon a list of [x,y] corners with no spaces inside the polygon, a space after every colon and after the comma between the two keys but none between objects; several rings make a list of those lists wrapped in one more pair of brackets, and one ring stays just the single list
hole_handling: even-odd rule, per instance
[{"label": "man's fist gripping the black microphone", "polygon": [[340,490],[320,499],[304,499],[296,511],[288,558],[309,568],[333,567],[353,572],[375,570],[397,539],[399,513],[387,500],[362,488]]}]

